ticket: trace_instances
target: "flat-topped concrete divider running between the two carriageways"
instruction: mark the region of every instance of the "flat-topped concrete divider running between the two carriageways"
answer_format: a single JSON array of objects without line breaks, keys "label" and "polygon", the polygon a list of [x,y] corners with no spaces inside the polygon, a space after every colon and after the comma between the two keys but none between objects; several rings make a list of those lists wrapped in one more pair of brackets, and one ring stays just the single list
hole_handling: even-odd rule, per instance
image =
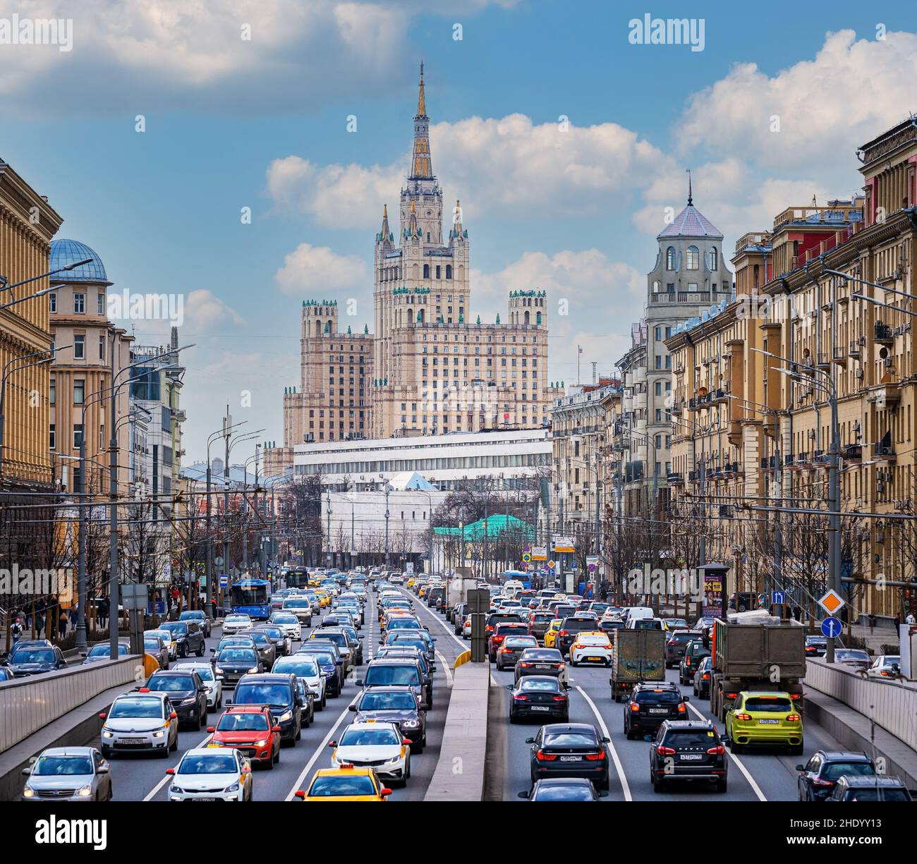
[{"label": "flat-topped concrete divider running between the two carriageways", "polygon": [[490,684],[490,663],[464,663],[455,670],[439,761],[424,801],[481,801]]}]

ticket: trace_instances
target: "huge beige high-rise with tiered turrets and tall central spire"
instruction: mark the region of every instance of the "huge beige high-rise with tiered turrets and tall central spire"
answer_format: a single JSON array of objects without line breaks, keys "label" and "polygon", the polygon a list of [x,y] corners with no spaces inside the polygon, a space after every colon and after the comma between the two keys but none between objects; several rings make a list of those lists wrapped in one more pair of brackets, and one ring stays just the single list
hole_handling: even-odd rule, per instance
[{"label": "huge beige high-rise with tiered turrets and tall central spire", "polygon": [[429,126],[421,64],[398,231],[383,205],[375,237],[373,332],[341,332],[335,300],[304,301],[301,380],[283,395],[273,473],[313,442],[547,426],[560,392],[547,381],[546,292],[512,292],[505,323],[472,314],[469,231],[456,201],[443,233]]}]

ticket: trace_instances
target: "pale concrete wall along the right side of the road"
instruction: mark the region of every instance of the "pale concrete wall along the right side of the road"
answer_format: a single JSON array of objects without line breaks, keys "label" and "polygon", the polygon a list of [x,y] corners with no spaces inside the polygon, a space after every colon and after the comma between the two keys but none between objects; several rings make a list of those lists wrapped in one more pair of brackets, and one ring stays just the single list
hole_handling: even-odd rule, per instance
[{"label": "pale concrete wall along the right side of the road", "polygon": [[866,675],[840,663],[806,660],[805,687],[849,705],[917,750],[917,684]]}]

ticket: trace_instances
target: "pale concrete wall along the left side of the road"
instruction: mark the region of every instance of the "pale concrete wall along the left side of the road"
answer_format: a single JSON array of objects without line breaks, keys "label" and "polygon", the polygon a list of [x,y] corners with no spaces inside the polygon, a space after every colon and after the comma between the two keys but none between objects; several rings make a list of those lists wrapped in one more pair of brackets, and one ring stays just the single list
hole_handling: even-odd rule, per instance
[{"label": "pale concrete wall along the left side of the road", "polygon": [[140,658],[120,657],[0,682],[0,753],[99,693],[143,677]]}]

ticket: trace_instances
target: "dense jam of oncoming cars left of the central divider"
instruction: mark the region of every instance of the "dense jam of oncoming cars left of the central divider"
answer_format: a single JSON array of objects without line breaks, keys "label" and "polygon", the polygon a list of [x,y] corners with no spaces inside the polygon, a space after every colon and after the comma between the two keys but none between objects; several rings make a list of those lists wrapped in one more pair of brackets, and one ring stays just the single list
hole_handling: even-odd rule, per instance
[{"label": "dense jam of oncoming cars left of the central divider", "polygon": [[221,624],[186,612],[148,630],[159,669],[89,746],[37,754],[21,800],[421,800],[460,648],[437,650],[400,574],[281,580],[245,586],[255,602]]}]

